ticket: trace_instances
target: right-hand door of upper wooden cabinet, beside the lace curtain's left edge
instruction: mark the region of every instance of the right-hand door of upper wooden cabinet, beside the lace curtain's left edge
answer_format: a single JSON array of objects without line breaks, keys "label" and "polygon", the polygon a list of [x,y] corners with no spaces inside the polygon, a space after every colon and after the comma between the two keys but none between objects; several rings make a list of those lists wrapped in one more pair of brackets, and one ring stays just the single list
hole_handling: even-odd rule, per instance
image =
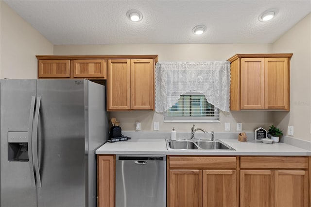
[{"label": "right-hand door of upper wooden cabinet, beside the lace curtain's left edge", "polygon": [[131,108],[154,109],[155,65],[153,59],[131,60]]}]

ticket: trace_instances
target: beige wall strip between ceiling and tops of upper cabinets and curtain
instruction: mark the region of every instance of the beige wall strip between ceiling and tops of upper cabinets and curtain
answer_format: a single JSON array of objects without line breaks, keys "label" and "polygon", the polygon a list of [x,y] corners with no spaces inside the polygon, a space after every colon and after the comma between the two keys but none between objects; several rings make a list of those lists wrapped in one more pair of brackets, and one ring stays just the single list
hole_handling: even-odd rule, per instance
[{"label": "beige wall strip between ceiling and tops of upper cabinets and curtain", "polygon": [[159,61],[226,60],[236,53],[270,52],[270,44],[126,44],[126,45],[60,45],[55,55],[157,54]]}]

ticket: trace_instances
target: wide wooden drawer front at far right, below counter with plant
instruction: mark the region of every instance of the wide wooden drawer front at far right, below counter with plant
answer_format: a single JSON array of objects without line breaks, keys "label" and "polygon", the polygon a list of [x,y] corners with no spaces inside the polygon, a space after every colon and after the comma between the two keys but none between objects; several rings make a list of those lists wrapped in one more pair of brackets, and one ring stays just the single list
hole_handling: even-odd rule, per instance
[{"label": "wide wooden drawer front at far right, below counter with plant", "polygon": [[307,169],[308,157],[241,157],[241,168]]}]

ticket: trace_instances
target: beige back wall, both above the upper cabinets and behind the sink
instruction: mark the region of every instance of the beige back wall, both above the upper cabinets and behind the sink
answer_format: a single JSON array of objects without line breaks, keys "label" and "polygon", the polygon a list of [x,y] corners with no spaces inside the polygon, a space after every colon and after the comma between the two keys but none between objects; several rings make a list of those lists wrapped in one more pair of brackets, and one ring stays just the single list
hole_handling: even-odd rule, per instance
[{"label": "beige back wall, both above the upper cabinets and behind the sink", "polygon": [[[214,61],[226,60],[236,53],[271,52],[270,44],[144,44],[144,45],[65,45],[54,46],[55,55],[65,54],[158,54],[159,61]],[[225,122],[231,123],[231,132],[236,132],[236,123],[242,122],[243,131],[253,132],[259,126],[272,123],[271,112],[231,112],[220,114],[219,123],[195,123],[207,131],[224,132]],[[153,111],[111,112],[110,117],[121,121],[122,130],[134,131],[135,122],[141,122],[142,131],[153,131],[154,122],[159,122],[161,132],[175,127],[177,132],[190,132],[193,123],[167,123],[163,116]]]}]

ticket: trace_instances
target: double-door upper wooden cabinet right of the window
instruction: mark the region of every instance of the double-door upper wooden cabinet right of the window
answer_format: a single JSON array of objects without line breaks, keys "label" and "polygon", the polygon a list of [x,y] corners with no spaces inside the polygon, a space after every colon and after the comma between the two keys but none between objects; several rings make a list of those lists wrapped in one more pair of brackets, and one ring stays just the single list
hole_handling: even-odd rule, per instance
[{"label": "double-door upper wooden cabinet right of the window", "polygon": [[236,54],[231,62],[230,110],[289,111],[290,58],[283,54]]}]

